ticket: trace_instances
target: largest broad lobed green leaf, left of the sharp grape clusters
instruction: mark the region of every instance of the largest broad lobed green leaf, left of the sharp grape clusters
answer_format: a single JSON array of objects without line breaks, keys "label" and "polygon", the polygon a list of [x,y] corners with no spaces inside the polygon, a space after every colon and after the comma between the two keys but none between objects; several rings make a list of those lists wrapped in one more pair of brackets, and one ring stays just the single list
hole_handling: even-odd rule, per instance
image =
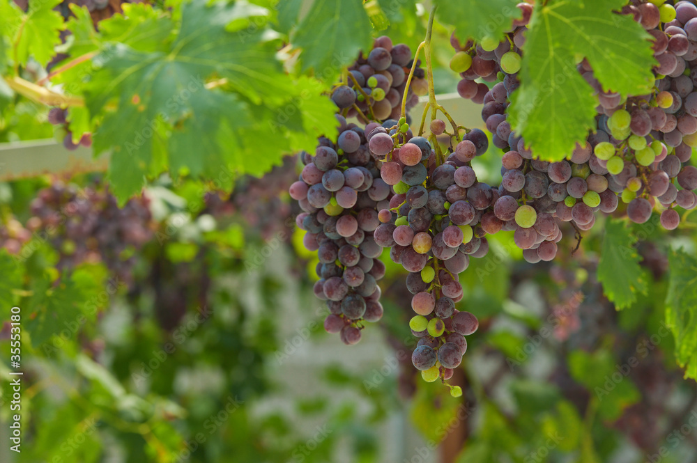
[{"label": "largest broad lobed green leaf, left of the sharp grape clusters", "polygon": [[[259,14],[259,7],[252,7],[250,14]],[[107,44],[84,88],[92,117],[103,114],[95,153],[112,150],[109,178],[122,203],[141,189],[147,175],[159,173],[167,155],[174,159],[174,171],[192,162],[194,172],[211,175],[231,155],[236,172],[261,173],[259,165],[277,164],[283,154],[265,145],[259,162],[259,140],[268,134],[254,141],[254,150],[248,147],[251,155],[236,153],[251,118],[240,98],[276,107],[302,90],[276,61],[275,45],[259,28],[228,31],[247,11],[237,3],[206,6],[194,0],[181,8],[181,28],[165,52]],[[234,93],[208,88],[206,81],[213,77]],[[162,155],[155,156],[158,152]]]}]

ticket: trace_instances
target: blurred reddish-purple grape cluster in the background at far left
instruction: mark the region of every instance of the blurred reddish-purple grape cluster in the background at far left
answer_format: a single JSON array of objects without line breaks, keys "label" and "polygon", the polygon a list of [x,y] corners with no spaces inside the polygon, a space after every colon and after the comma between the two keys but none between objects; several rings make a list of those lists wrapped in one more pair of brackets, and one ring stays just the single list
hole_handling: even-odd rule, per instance
[{"label": "blurred reddish-purple grape cluster in the background at far left", "polygon": [[59,251],[56,267],[101,261],[125,282],[132,281],[134,251],[153,236],[144,196],[120,208],[108,191],[91,187],[77,190],[56,181],[38,192],[31,202],[31,213],[26,228]]}]

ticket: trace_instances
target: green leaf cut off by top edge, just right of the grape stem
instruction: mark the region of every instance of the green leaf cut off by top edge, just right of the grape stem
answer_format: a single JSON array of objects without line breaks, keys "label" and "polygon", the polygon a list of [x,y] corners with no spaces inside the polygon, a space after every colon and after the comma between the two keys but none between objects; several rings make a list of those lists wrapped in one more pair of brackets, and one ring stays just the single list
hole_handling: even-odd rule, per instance
[{"label": "green leaf cut off by top edge, just right of the grape stem", "polygon": [[517,0],[434,0],[438,6],[438,19],[455,26],[455,34],[463,40],[482,40],[485,37],[503,39],[504,33],[511,29],[513,20],[522,16],[517,3]]}]

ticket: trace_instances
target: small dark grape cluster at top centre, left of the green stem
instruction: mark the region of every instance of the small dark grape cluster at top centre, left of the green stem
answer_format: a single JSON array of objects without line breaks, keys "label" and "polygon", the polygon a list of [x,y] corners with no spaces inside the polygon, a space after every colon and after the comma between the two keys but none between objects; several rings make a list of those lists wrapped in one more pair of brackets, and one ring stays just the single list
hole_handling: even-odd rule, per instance
[{"label": "small dark grape cluster at top centre, left of the green stem", "polygon": [[[335,86],[332,101],[346,118],[358,116],[364,124],[369,120],[398,119],[412,65],[408,45],[400,43],[393,46],[389,37],[378,37],[368,56],[360,54],[358,60],[348,68],[348,81]],[[419,95],[428,93],[428,83],[424,77],[424,70],[417,67],[407,90],[407,110],[419,102]]]}]

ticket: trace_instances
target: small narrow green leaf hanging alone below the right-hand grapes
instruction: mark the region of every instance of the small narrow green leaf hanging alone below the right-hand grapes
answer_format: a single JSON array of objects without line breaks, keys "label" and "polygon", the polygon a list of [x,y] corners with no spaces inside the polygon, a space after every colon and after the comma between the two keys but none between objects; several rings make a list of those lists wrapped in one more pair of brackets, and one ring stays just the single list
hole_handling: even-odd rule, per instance
[{"label": "small narrow green leaf hanging alone below the right-hand grapes", "polygon": [[639,266],[639,258],[634,244],[636,237],[631,234],[625,221],[608,219],[605,223],[598,280],[603,284],[605,295],[615,308],[622,309],[636,302],[637,293],[646,294],[646,274]]}]

